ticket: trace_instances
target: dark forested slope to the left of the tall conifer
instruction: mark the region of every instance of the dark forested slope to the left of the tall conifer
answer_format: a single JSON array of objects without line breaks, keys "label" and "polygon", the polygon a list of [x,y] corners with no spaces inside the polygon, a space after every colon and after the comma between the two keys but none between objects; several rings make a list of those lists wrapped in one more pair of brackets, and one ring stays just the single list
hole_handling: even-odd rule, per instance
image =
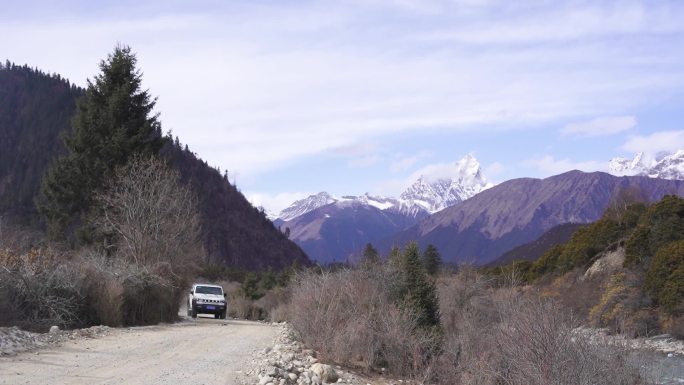
[{"label": "dark forested slope to the left of the tall conifer", "polygon": [[64,151],[76,99],[84,90],[59,75],[0,64],[0,214],[36,224],[33,199],[45,169]]}]

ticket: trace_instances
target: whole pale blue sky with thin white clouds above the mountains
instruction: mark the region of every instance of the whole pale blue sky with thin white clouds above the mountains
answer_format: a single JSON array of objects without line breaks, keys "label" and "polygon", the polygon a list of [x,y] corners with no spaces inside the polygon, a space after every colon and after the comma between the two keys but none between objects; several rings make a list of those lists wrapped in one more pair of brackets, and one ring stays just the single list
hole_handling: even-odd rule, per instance
[{"label": "whole pale blue sky with thin white clouds above the mountains", "polygon": [[684,148],[681,1],[2,3],[0,58],[77,84],[131,45],[164,129],[270,210]]}]

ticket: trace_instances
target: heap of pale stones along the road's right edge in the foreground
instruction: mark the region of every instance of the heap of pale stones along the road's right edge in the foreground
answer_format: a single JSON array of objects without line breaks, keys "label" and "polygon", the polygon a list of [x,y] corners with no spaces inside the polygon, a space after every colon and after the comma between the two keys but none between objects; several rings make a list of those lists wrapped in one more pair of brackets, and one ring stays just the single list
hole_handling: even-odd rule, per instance
[{"label": "heap of pale stones along the road's right edge in the foreground", "polygon": [[280,329],[271,347],[252,355],[250,369],[241,373],[245,385],[366,385],[358,376],[318,362],[313,350],[305,349],[292,338],[287,324],[276,324]]}]

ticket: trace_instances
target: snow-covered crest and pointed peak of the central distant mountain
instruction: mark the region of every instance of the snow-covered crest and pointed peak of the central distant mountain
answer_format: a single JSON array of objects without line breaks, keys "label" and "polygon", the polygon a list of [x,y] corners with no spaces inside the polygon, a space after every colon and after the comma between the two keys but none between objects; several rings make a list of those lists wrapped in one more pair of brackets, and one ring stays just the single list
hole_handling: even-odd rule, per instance
[{"label": "snow-covered crest and pointed peak of the central distant mountain", "polygon": [[467,155],[455,164],[453,175],[448,178],[421,175],[399,198],[372,196],[368,193],[334,197],[327,192],[320,192],[294,202],[278,215],[278,219],[287,222],[329,204],[339,207],[368,205],[411,218],[422,218],[460,203],[491,186],[482,175],[477,159]]}]

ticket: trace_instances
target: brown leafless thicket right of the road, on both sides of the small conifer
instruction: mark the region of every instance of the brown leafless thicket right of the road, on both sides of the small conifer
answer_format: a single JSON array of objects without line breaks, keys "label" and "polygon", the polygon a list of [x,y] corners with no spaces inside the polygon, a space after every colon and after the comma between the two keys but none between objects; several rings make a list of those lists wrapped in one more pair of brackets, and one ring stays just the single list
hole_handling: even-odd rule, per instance
[{"label": "brown leafless thicket right of the road, on both sides of the small conifer", "polygon": [[464,268],[439,279],[443,328],[428,334],[393,305],[392,278],[387,267],[301,274],[292,288],[292,326],[324,359],[422,383],[648,383],[621,348],[577,334],[576,319],[557,300],[501,288]]}]

